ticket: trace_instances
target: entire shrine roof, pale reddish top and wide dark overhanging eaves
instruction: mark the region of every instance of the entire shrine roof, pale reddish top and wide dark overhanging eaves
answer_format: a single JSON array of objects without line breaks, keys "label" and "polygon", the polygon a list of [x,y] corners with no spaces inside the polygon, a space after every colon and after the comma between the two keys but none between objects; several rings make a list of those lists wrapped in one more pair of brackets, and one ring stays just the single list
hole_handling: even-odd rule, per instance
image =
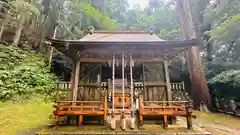
[{"label": "entire shrine roof, pale reddish top and wide dark overhanging eaves", "polygon": [[186,48],[199,45],[199,40],[165,41],[151,31],[115,30],[90,31],[79,40],[59,40],[47,38],[51,46],[75,58],[77,53],[83,57],[111,58],[112,53],[129,53],[134,57],[168,57],[172,58]]}]

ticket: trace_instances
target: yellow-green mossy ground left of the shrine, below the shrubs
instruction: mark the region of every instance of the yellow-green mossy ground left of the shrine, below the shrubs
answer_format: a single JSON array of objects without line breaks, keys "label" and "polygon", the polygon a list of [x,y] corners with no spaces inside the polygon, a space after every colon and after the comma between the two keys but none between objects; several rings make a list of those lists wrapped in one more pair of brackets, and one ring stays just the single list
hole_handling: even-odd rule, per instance
[{"label": "yellow-green mossy ground left of the shrine, below the shrubs", "polygon": [[49,123],[52,104],[39,100],[0,103],[0,135],[12,135]]}]

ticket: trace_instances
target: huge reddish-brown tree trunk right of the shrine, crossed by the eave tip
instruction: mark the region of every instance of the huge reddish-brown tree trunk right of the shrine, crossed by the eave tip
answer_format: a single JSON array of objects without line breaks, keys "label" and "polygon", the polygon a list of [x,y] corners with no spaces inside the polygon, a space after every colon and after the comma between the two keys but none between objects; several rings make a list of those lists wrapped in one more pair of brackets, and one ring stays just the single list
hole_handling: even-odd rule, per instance
[{"label": "huge reddish-brown tree trunk right of the shrine, crossed by the eave tip", "polygon": [[[194,28],[188,0],[177,0],[177,8],[180,13],[180,22],[184,39],[197,38]],[[200,103],[211,105],[210,93],[208,91],[207,80],[205,78],[202,65],[202,57],[199,47],[187,48],[188,70],[191,80],[191,96],[196,108],[200,108]]]}]

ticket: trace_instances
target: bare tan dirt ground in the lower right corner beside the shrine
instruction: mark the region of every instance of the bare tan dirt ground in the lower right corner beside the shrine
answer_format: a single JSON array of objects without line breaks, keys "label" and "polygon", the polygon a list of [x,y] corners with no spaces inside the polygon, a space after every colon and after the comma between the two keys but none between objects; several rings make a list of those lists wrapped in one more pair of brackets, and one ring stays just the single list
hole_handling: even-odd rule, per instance
[{"label": "bare tan dirt ground in the lower right corner beside the shrine", "polygon": [[226,114],[194,112],[195,126],[203,128],[213,135],[240,135],[240,118]]}]

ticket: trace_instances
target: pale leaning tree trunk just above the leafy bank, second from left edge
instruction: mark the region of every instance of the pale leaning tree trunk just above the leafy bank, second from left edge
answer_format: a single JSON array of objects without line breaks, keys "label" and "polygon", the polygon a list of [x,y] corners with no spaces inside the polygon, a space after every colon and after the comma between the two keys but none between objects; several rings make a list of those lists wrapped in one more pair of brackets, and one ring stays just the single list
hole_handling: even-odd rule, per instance
[{"label": "pale leaning tree trunk just above the leafy bank, second from left edge", "polygon": [[22,33],[22,29],[23,29],[23,25],[24,25],[24,21],[25,21],[24,16],[20,16],[20,21],[18,23],[18,27],[17,27],[15,35],[13,37],[12,46],[18,46],[18,43],[19,43],[19,40],[21,37],[21,33]]}]

